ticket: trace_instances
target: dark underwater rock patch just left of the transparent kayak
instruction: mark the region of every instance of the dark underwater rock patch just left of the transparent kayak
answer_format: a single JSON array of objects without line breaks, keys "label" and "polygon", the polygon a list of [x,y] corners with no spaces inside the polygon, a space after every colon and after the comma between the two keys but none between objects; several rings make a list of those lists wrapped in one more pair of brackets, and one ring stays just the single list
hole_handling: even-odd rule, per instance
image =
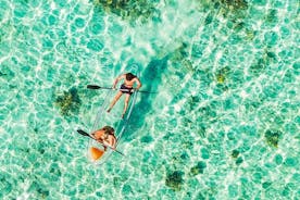
[{"label": "dark underwater rock patch just left of the transparent kayak", "polygon": [[68,91],[64,91],[62,96],[55,99],[55,104],[60,108],[62,115],[70,115],[72,112],[77,113],[82,104],[77,89],[71,88]]}]

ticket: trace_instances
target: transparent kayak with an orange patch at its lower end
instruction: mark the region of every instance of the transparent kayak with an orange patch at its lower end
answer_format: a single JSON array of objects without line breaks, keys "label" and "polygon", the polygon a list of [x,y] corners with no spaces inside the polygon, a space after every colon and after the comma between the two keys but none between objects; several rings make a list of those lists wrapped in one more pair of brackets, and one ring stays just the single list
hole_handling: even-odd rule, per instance
[{"label": "transparent kayak with an orange patch at its lower end", "polygon": [[[139,77],[139,72],[138,72],[137,65],[132,65],[129,68],[126,68],[126,72],[124,72],[124,73],[129,73],[129,72]],[[126,111],[124,117],[122,118],[121,115],[122,115],[122,112],[124,109],[125,95],[123,95],[120,98],[120,100],[115,103],[114,108],[111,110],[110,113],[107,112],[111,101],[113,100],[113,98],[115,97],[117,91],[118,90],[113,90],[113,89],[103,89],[102,90],[102,92],[107,92],[107,95],[105,95],[102,105],[99,108],[99,111],[97,113],[97,116],[96,116],[96,120],[95,120],[95,123],[93,123],[90,134],[97,129],[102,128],[103,126],[112,126],[115,130],[115,137],[117,139],[116,140],[116,149],[122,152],[122,150],[118,149],[117,147],[118,147],[121,137],[126,129],[128,120],[133,112],[133,109],[135,107],[138,92],[134,92],[132,95],[127,111]],[[117,153],[117,152],[114,152],[110,148],[107,148],[107,151],[104,151],[104,148],[101,143],[97,142],[93,139],[89,139],[87,153],[88,153],[88,158],[90,159],[90,161],[93,164],[100,165],[100,164],[103,164],[111,157],[112,153]]]}]

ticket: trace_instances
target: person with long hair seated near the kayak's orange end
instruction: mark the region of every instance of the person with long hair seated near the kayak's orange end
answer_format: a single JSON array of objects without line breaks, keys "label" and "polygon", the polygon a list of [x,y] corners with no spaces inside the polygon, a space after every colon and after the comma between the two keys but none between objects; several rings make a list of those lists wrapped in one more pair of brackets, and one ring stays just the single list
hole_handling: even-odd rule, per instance
[{"label": "person with long hair seated near the kayak's orange end", "polygon": [[104,151],[107,147],[115,149],[116,138],[114,136],[114,129],[111,126],[104,126],[91,134],[91,136],[103,145]]}]

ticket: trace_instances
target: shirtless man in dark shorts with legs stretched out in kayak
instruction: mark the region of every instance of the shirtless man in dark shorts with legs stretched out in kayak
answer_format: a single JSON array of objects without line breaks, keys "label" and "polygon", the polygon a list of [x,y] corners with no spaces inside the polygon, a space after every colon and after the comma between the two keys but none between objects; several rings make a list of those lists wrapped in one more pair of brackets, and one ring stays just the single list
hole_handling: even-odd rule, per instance
[{"label": "shirtless man in dark shorts with legs stretched out in kayak", "polygon": [[[124,79],[124,83],[122,84],[120,91],[116,93],[113,101],[111,102],[108,112],[111,112],[111,110],[112,110],[113,105],[116,103],[116,101],[121,98],[121,96],[123,93],[125,93],[126,95],[125,105],[124,105],[124,110],[122,113],[122,118],[123,118],[124,114],[126,113],[126,110],[128,108],[128,102],[129,102],[130,96],[133,95],[133,92],[135,92],[135,90],[138,90],[141,87],[141,83],[138,79],[138,77],[133,75],[132,73],[122,74],[115,78],[115,80],[113,83],[113,89],[115,89],[116,84],[122,79]],[[135,83],[137,84],[136,88],[134,88]]]}]

